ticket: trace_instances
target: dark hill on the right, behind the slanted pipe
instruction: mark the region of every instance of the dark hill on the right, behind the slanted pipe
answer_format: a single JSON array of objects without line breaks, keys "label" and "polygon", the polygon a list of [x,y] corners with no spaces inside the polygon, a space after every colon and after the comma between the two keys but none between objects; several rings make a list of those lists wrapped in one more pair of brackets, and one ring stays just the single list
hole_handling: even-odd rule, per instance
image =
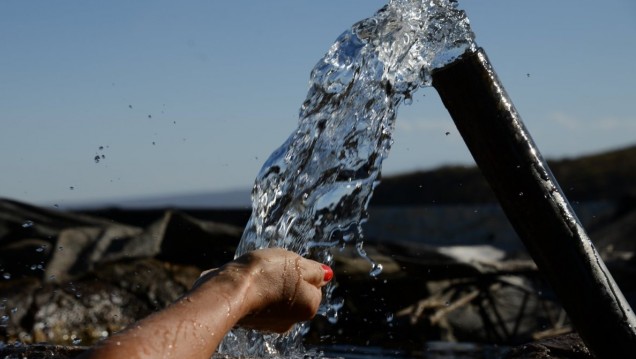
[{"label": "dark hill on the right, behind the slanted pipe", "polygon": [[[636,194],[636,146],[548,161],[570,201],[618,200]],[[383,178],[371,205],[496,202],[476,166],[446,166]]]}]

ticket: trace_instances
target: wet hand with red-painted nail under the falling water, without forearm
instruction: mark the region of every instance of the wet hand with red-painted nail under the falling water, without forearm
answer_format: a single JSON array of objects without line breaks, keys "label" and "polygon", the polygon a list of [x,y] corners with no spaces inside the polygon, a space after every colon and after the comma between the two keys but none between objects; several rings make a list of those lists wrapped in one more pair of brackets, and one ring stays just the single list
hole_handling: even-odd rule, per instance
[{"label": "wet hand with red-painted nail under the falling water, without forearm", "polygon": [[204,272],[195,288],[212,278],[245,284],[244,314],[238,324],[284,333],[316,315],[322,299],[320,288],[332,277],[326,265],[281,248],[267,248]]}]

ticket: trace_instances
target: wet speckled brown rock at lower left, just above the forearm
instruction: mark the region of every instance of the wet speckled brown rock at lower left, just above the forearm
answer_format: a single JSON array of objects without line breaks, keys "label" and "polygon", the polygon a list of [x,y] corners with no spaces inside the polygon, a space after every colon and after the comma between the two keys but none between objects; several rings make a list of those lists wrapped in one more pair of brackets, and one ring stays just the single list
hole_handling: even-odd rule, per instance
[{"label": "wet speckled brown rock at lower left, just above the forearm", "polygon": [[9,320],[0,338],[92,345],[176,300],[199,273],[193,266],[137,259],[104,265],[76,281],[3,283],[1,309]]}]

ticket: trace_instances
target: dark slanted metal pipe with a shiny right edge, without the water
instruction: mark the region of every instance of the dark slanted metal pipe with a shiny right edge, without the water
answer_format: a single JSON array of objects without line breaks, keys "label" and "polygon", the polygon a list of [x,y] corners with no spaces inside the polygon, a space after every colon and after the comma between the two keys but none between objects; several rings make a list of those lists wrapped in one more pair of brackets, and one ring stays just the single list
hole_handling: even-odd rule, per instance
[{"label": "dark slanted metal pipe with a shiny right edge, without the water", "polygon": [[433,87],[588,348],[599,358],[636,355],[636,317],[484,51],[435,72]]}]

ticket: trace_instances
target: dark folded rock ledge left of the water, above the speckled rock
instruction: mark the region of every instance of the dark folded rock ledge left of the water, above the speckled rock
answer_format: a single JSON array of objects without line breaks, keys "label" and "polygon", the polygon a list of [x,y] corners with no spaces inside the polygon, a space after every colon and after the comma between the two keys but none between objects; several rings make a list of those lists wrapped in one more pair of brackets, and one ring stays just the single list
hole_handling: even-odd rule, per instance
[{"label": "dark folded rock ledge left of the water, above the speckled rock", "polygon": [[63,283],[135,258],[211,268],[232,259],[242,231],[174,211],[139,228],[0,199],[0,274]]}]

